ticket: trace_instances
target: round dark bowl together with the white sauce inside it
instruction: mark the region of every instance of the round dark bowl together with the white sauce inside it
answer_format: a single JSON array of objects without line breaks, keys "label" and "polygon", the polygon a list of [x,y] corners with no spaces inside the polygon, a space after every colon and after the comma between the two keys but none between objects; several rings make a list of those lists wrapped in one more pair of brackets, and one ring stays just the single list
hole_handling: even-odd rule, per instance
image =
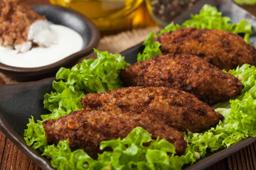
[{"label": "round dark bowl together with the white sauce inside it", "polygon": [[[28,40],[33,38],[32,43],[25,42],[16,45],[14,42],[14,50],[10,45],[8,47],[1,46],[0,50],[3,52],[9,50],[0,58],[0,71],[4,74],[17,81],[51,77],[60,67],[69,67],[75,64],[80,57],[85,57],[92,52],[93,48],[97,47],[100,33],[97,27],[80,13],[70,8],[53,5],[33,6],[33,10],[40,16],[46,17],[52,34],[42,31],[41,35],[38,34],[36,37],[29,32]],[[41,20],[34,23],[37,23],[37,26],[36,24],[34,27],[31,25],[29,31],[38,31],[38,26],[46,27]],[[45,38],[47,36],[53,39],[53,42],[47,42]],[[42,41],[36,44],[36,40]],[[65,46],[63,42],[66,43]],[[49,43],[51,44],[48,45]],[[36,47],[34,47],[35,44]],[[72,45],[73,49],[70,48]]]}]

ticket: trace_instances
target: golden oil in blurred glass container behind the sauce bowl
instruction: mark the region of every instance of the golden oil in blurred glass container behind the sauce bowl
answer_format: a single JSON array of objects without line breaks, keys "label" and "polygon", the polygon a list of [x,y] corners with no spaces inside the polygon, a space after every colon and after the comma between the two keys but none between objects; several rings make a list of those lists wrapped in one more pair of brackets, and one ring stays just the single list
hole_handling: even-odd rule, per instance
[{"label": "golden oil in blurred glass container behind the sauce bowl", "polygon": [[99,30],[131,24],[132,13],[143,0],[50,0],[51,4],[73,8],[95,23]]}]

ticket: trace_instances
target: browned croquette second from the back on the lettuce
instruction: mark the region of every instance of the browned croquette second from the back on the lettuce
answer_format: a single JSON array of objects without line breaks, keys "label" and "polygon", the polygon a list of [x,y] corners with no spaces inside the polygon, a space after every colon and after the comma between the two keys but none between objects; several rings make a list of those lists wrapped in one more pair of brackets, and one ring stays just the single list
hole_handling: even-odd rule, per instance
[{"label": "browned croquette second from the back on the lettuce", "polygon": [[210,105],[242,91],[236,77],[195,55],[159,55],[130,65],[120,77],[127,86],[166,86],[187,91]]}]

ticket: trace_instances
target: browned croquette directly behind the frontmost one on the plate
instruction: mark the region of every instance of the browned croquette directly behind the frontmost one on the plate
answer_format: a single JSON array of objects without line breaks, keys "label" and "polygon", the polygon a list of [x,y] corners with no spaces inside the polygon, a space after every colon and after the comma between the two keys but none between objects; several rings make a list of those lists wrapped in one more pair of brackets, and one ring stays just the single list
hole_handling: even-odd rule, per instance
[{"label": "browned croquette directly behind the frontmost one on the plate", "polygon": [[156,115],[179,131],[202,132],[223,120],[193,94],[168,87],[131,86],[82,97],[82,106],[95,110]]}]

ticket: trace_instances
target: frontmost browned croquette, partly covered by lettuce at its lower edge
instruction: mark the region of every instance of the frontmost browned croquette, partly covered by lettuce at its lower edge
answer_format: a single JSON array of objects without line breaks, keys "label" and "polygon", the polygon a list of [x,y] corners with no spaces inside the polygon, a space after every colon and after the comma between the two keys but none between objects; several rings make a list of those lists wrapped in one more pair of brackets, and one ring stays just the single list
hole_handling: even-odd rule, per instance
[{"label": "frontmost browned croquette, partly covered by lettuce at its lower edge", "polygon": [[84,149],[93,158],[101,152],[101,141],[127,137],[137,126],[151,133],[154,140],[160,137],[174,144],[176,154],[185,152],[187,144],[183,135],[150,114],[80,110],[58,120],[43,122],[48,142],[58,144],[60,140],[68,139],[71,149]]}]

